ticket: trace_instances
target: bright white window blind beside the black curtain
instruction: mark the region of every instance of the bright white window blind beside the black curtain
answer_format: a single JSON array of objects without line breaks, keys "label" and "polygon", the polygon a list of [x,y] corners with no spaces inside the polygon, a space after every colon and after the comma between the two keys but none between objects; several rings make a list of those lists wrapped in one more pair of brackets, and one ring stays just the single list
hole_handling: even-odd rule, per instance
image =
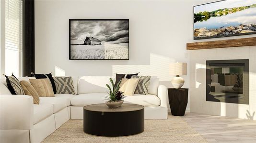
[{"label": "bright white window blind beside the black curtain", "polygon": [[22,74],[22,0],[5,0],[5,74]]}]

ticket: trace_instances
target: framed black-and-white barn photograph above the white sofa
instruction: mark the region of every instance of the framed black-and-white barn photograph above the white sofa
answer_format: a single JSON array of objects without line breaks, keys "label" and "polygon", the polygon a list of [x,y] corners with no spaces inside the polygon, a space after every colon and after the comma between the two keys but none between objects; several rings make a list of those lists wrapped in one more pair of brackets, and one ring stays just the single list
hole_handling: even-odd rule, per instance
[{"label": "framed black-and-white barn photograph above the white sofa", "polygon": [[70,20],[70,60],[129,60],[129,20]]}]

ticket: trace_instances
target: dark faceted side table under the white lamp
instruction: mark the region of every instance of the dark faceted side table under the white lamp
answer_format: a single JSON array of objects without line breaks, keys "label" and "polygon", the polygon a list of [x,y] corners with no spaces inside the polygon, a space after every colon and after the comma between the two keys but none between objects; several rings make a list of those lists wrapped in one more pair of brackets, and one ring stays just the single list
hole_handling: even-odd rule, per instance
[{"label": "dark faceted side table under the white lamp", "polygon": [[188,88],[168,88],[172,115],[184,116],[187,105]]}]

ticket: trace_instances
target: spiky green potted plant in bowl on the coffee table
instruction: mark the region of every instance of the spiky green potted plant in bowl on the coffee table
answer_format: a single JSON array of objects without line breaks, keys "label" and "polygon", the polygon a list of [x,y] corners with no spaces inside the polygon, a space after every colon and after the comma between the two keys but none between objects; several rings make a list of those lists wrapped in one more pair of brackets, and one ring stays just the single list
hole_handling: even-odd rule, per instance
[{"label": "spiky green potted plant in bowl on the coffee table", "polygon": [[107,88],[109,89],[108,92],[108,96],[105,96],[107,98],[108,101],[105,102],[105,104],[109,107],[109,108],[117,108],[120,107],[122,105],[122,103],[124,102],[125,95],[123,94],[124,92],[120,92],[119,91],[119,85],[121,83],[121,81],[119,81],[117,84],[114,83],[112,78],[109,78],[111,84],[112,84],[112,89],[111,87],[106,84]]}]

